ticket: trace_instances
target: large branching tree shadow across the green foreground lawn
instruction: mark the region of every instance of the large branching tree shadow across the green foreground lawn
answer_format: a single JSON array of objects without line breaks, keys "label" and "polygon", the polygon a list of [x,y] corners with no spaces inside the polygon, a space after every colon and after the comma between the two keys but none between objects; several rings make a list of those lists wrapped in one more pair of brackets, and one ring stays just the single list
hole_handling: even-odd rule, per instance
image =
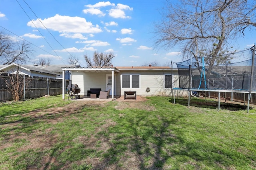
[{"label": "large branching tree shadow across the green foreground lawn", "polygon": [[[104,159],[93,169],[110,166],[141,170],[201,169],[204,166],[222,169],[234,164],[246,166],[250,162],[246,155],[235,149],[200,141],[193,134],[196,130],[186,129],[193,125],[187,123],[183,114],[162,115],[137,110],[134,115],[126,112],[126,117],[117,123],[98,133],[106,137],[105,141],[111,147],[104,151]],[[202,135],[202,139],[206,139],[209,134]],[[193,137],[195,139],[191,140]],[[131,164],[122,167],[129,158]]]}]

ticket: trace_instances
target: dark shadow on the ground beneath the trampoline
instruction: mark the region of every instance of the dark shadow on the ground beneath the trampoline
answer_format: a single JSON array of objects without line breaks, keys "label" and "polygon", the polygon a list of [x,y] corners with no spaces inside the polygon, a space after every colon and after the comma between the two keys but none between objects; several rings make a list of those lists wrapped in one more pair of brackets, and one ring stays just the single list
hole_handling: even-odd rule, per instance
[{"label": "dark shadow on the ground beneath the trampoline", "polygon": [[[174,100],[173,101],[169,100],[169,102],[173,103]],[[188,99],[179,98],[179,99],[175,100],[175,103],[176,104],[181,104],[183,106],[188,106]],[[190,106],[210,108],[210,109],[218,109],[218,101],[192,98],[190,100]],[[243,103],[233,104],[233,103],[220,101],[220,109],[227,109],[227,110],[230,110],[230,111],[239,111],[239,110],[247,110],[247,106],[245,106]],[[252,107],[249,106],[249,109],[252,109]]]}]

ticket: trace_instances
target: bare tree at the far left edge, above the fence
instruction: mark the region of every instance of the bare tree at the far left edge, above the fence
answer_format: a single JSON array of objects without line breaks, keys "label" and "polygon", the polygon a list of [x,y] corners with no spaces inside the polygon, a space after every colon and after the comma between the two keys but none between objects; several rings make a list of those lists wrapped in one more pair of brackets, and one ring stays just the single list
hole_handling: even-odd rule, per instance
[{"label": "bare tree at the far left edge, above the fence", "polygon": [[22,42],[12,41],[9,35],[0,32],[0,63],[12,64],[12,63],[26,63],[26,59],[29,59],[29,55],[32,53],[30,44]]}]

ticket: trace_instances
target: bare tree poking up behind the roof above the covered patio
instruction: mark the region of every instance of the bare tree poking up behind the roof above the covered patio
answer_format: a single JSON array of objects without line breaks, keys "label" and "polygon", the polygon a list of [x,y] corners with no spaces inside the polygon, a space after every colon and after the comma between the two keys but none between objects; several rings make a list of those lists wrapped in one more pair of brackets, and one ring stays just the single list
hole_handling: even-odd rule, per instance
[{"label": "bare tree poking up behind the roof above the covered patio", "polygon": [[97,51],[94,51],[92,60],[88,55],[84,55],[84,59],[87,63],[88,67],[92,66],[110,66],[111,60],[114,58],[114,54],[112,52],[110,53],[98,53]]}]

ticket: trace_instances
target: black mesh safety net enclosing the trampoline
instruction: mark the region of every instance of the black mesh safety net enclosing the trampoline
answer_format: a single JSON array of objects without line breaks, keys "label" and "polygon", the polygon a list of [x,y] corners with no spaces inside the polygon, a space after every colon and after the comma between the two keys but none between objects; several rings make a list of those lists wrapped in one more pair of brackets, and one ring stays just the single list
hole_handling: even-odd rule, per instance
[{"label": "black mesh safety net enclosing the trampoline", "polygon": [[[189,84],[191,83],[190,89],[249,91],[253,68],[252,91],[256,91],[256,59],[254,59],[254,66],[252,67],[252,49],[233,53],[232,61],[234,63],[213,65],[212,69],[208,64],[203,64],[202,61],[204,59],[202,57],[198,62],[196,62],[195,58],[192,58],[176,63],[179,75],[179,88],[189,89]],[[208,73],[210,69],[211,71]]]}]

